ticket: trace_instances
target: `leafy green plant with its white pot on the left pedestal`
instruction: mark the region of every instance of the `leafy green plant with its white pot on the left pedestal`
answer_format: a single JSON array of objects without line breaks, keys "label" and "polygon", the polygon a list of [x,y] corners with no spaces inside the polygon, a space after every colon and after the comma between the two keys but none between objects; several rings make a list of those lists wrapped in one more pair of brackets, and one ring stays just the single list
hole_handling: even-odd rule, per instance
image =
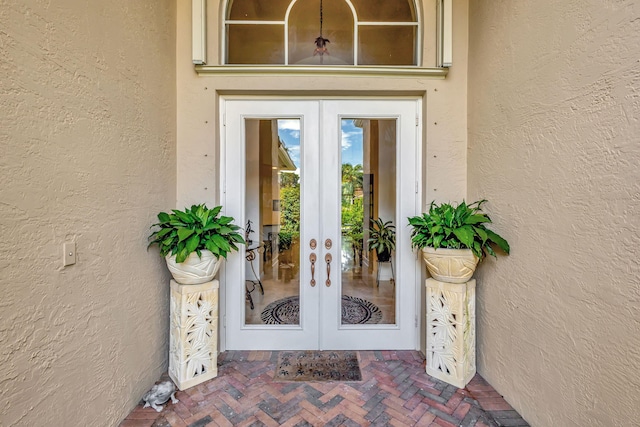
[{"label": "leafy green plant with its white pot on the left pedestal", "polygon": [[222,206],[209,209],[202,204],[158,214],[159,222],[152,227],[160,228],[149,236],[149,246],[160,247],[176,282],[195,285],[212,280],[222,258],[238,250],[237,243],[245,243],[240,227],[232,224],[232,217],[221,216],[221,210]]}]

